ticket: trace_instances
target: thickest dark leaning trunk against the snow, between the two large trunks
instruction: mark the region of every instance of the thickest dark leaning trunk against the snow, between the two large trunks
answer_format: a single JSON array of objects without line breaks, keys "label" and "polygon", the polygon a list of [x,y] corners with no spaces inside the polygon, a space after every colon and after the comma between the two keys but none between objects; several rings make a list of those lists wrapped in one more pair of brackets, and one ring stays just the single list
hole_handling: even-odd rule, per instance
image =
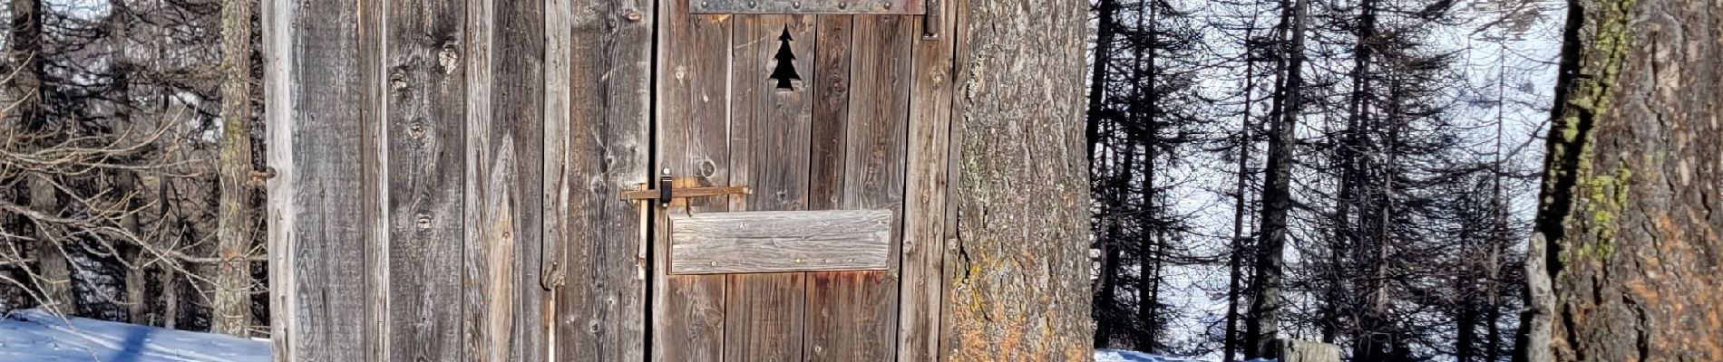
[{"label": "thickest dark leaning trunk against the snow, between the two large trunks", "polygon": [[[1256,269],[1251,278],[1256,295],[1251,299],[1251,316],[1246,326],[1244,359],[1265,357],[1275,335],[1280,333],[1280,280],[1285,273],[1287,211],[1292,209],[1292,144],[1297,137],[1296,125],[1301,108],[1299,93],[1304,65],[1304,14],[1308,0],[1294,0],[1285,19],[1291,29],[1291,43],[1282,53],[1285,57],[1285,79],[1277,84],[1275,120],[1268,129],[1268,165],[1263,185],[1263,218],[1260,240],[1256,244]],[[1285,27],[1285,26],[1284,26]]]}]

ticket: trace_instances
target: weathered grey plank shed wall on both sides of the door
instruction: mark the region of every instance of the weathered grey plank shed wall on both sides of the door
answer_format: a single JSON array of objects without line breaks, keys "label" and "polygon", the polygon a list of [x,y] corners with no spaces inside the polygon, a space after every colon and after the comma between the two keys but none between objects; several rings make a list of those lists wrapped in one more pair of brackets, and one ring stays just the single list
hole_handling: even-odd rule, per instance
[{"label": "weathered grey plank shed wall on both sides of the door", "polygon": [[[681,3],[264,0],[276,360],[648,359],[651,214],[617,192],[656,170],[656,10]],[[915,55],[908,105],[806,100],[815,118],[908,113],[901,287],[882,295],[901,304],[896,360],[937,359],[949,273],[958,21],[930,5],[941,36],[893,22]],[[874,24],[818,19],[806,27]],[[808,154],[844,166],[830,156]]]}]

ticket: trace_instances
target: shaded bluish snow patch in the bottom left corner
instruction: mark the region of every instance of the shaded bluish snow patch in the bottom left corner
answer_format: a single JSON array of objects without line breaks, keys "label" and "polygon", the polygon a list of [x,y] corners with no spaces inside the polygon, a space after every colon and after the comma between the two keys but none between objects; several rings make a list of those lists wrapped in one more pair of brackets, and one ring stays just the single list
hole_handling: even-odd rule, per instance
[{"label": "shaded bluish snow patch in the bottom left corner", "polygon": [[26,309],[0,317],[0,360],[269,362],[269,341]]}]

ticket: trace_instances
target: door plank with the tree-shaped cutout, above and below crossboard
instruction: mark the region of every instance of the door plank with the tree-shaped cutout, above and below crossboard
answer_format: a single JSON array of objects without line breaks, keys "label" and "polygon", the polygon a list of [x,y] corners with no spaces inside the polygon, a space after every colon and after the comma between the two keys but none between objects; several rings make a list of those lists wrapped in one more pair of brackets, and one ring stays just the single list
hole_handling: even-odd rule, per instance
[{"label": "door plank with the tree-shaped cutout, above and below crossboard", "polygon": [[[753,194],[731,197],[731,211],[805,209],[808,194],[808,103],[806,86],[789,79],[779,87],[779,67],[806,69],[812,51],[812,17],[736,15],[731,48],[731,184],[750,185]],[[787,36],[787,39],[786,39]],[[784,53],[781,53],[784,51]],[[787,60],[787,63],[784,63]],[[689,218],[736,216],[736,213],[694,214]],[[670,221],[672,233],[679,230]],[[703,235],[701,235],[703,237]],[[682,262],[677,256],[737,256],[725,240],[717,244],[684,242],[672,235],[670,273],[712,264],[744,266],[700,259]],[[710,240],[710,238],[703,238]],[[722,250],[689,250],[700,245],[729,245]],[[767,257],[775,259],[775,257]],[[789,261],[789,259],[777,259]],[[808,261],[808,259],[805,259]],[[750,271],[750,268],[727,273]],[[725,273],[725,271],[708,271]],[[725,300],[727,360],[799,360],[803,276],[799,273],[727,275]]]}]

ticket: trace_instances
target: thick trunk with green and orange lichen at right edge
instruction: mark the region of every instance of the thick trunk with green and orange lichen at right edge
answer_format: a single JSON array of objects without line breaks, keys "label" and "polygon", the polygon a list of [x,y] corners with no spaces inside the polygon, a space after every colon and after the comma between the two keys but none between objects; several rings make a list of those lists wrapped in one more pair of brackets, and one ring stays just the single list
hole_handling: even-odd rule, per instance
[{"label": "thick trunk with green and orange lichen at right edge", "polygon": [[1723,360],[1720,29],[1714,0],[1571,2],[1528,276],[1551,338],[1520,359]]}]

